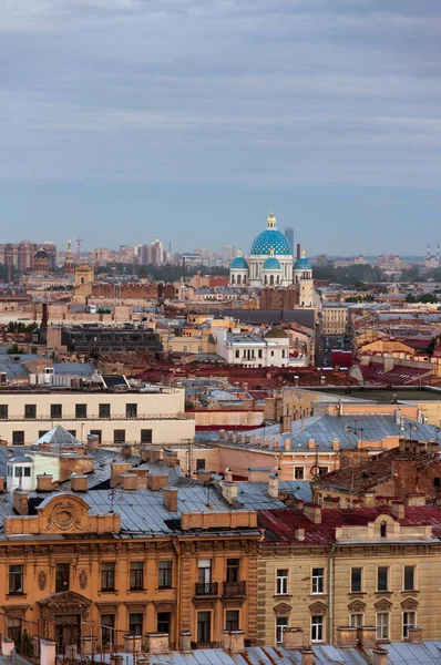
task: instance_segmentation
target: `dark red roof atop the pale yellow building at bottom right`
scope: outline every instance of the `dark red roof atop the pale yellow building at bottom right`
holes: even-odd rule
[[[321,524],[314,524],[301,510],[281,508],[259,511],[259,526],[265,529],[264,544],[289,543],[291,545],[324,545],[335,541],[339,526],[366,526],[380,514],[390,514],[389,508],[325,509]],[[406,507],[402,526],[431,524],[433,535],[441,538],[441,508]],[[305,529],[305,541],[296,540],[297,529]]]

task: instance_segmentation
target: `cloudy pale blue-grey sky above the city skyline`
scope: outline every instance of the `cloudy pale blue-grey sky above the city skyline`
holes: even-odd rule
[[[2,0],[0,243],[441,242],[439,0]]]

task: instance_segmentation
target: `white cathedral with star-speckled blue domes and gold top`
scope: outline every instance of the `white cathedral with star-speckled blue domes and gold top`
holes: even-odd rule
[[[312,307],[312,266],[301,250],[294,259],[287,238],[277,229],[273,213],[266,229],[254,239],[247,258],[240,249],[229,264],[229,284],[240,288],[291,287],[300,307]]]

